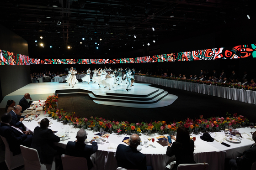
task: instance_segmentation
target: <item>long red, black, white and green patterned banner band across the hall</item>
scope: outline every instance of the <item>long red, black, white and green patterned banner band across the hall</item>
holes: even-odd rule
[[[0,65],[29,65],[29,64],[123,64],[147,62],[179,62],[198,60],[219,60],[237,58],[256,58],[256,44],[234,47],[210,48],[190,52],[177,52],[155,56],[117,58],[117,59],[36,59],[0,50]]]

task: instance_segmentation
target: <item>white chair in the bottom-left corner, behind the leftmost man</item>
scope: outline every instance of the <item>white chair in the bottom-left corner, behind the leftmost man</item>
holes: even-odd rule
[[[5,164],[7,165],[8,170],[24,165],[23,156],[21,154],[13,156],[7,140],[3,136],[1,136],[1,138],[5,144]]]

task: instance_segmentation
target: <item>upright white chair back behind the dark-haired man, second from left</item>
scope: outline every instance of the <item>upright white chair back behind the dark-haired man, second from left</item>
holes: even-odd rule
[[[36,149],[20,145],[21,154],[24,158],[25,170],[40,170],[41,162]]]

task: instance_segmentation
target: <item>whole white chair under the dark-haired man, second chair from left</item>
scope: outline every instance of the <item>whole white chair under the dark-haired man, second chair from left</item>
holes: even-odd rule
[[[25,170],[55,170],[55,158],[53,164],[41,164],[37,149],[20,145],[21,154],[24,158]]]

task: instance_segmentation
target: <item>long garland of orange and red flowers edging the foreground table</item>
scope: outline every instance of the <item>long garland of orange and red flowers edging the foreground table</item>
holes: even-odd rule
[[[234,113],[232,116],[229,113],[227,117],[211,117],[203,118],[203,115],[200,115],[199,118],[187,118],[185,120],[176,121],[176,122],[167,122],[167,121],[151,121],[147,122],[137,122],[129,123],[128,121],[117,121],[117,120],[108,120],[102,117],[93,117],[82,118],[77,116],[74,113],[68,113],[63,109],[57,108],[58,95],[48,96],[44,104],[44,113],[48,113],[50,117],[63,121],[64,123],[74,124],[78,128],[103,128],[103,129],[113,129],[117,133],[142,133],[145,131],[156,131],[161,134],[168,134],[170,132],[176,132],[178,127],[184,126],[190,132],[198,130],[201,131],[219,131],[224,129],[225,125],[232,126],[233,128],[244,127],[248,125],[249,120],[242,115]]]

